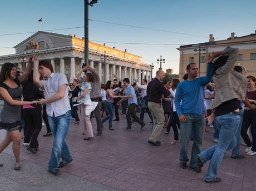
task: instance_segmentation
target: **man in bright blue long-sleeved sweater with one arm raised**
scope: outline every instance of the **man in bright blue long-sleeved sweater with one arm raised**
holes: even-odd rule
[[[205,77],[198,78],[198,66],[190,63],[186,67],[188,79],[179,83],[175,94],[175,107],[180,119],[180,167],[185,169],[188,159],[188,144],[191,130],[194,144],[191,151],[190,168],[196,170],[196,155],[201,152],[205,129],[204,87],[212,80],[209,55]]]

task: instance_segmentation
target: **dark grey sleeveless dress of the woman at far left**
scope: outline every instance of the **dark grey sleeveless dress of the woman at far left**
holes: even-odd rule
[[[13,80],[18,85],[17,88],[10,88],[5,83],[0,83],[0,87],[7,89],[12,99],[20,101],[22,98],[21,84],[18,78]],[[0,114],[0,129],[6,129],[7,131],[17,130],[21,120],[21,106],[11,105],[6,100],[3,101],[3,109]]]

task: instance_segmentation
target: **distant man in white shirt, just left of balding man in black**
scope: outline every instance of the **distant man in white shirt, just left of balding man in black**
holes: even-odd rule
[[[142,121],[144,120],[144,113],[145,113],[145,110],[146,110],[147,114],[149,114],[149,117],[151,119],[150,123],[152,123],[153,118],[152,118],[152,115],[150,113],[149,108],[145,108],[142,105],[142,102],[145,102],[146,105],[147,105],[147,80],[146,79],[142,79],[142,85],[138,82],[137,79],[134,79],[134,81],[136,82],[137,87],[141,89],[141,98],[142,98],[142,100],[141,100],[141,104],[140,104],[141,105],[141,108],[140,108],[140,119]]]

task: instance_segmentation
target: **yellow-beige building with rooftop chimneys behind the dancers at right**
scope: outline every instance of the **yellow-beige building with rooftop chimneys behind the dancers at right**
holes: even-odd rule
[[[205,76],[208,54],[212,51],[223,51],[228,46],[240,49],[235,65],[241,66],[246,76],[256,76],[255,31],[252,34],[242,37],[235,37],[235,33],[231,33],[231,36],[227,40],[222,41],[215,41],[213,35],[210,34],[209,42],[180,46],[177,48],[180,51],[180,80],[182,80],[186,73],[186,66],[191,62],[197,63],[200,76]]]

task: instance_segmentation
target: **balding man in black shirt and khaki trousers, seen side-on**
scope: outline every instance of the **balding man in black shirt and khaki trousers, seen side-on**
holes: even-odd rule
[[[149,107],[149,110],[152,114],[154,123],[152,134],[149,138],[148,143],[154,146],[160,146],[161,142],[157,139],[159,138],[161,130],[164,126],[164,109],[161,105],[161,98],[162,95],[164,95],[165,97],[169,96],[164,85],[161,83],[164,77],[165,72],[159,70],[156,72],[156,77],[147,85],[147,100],[149,101],[147,106]]]

